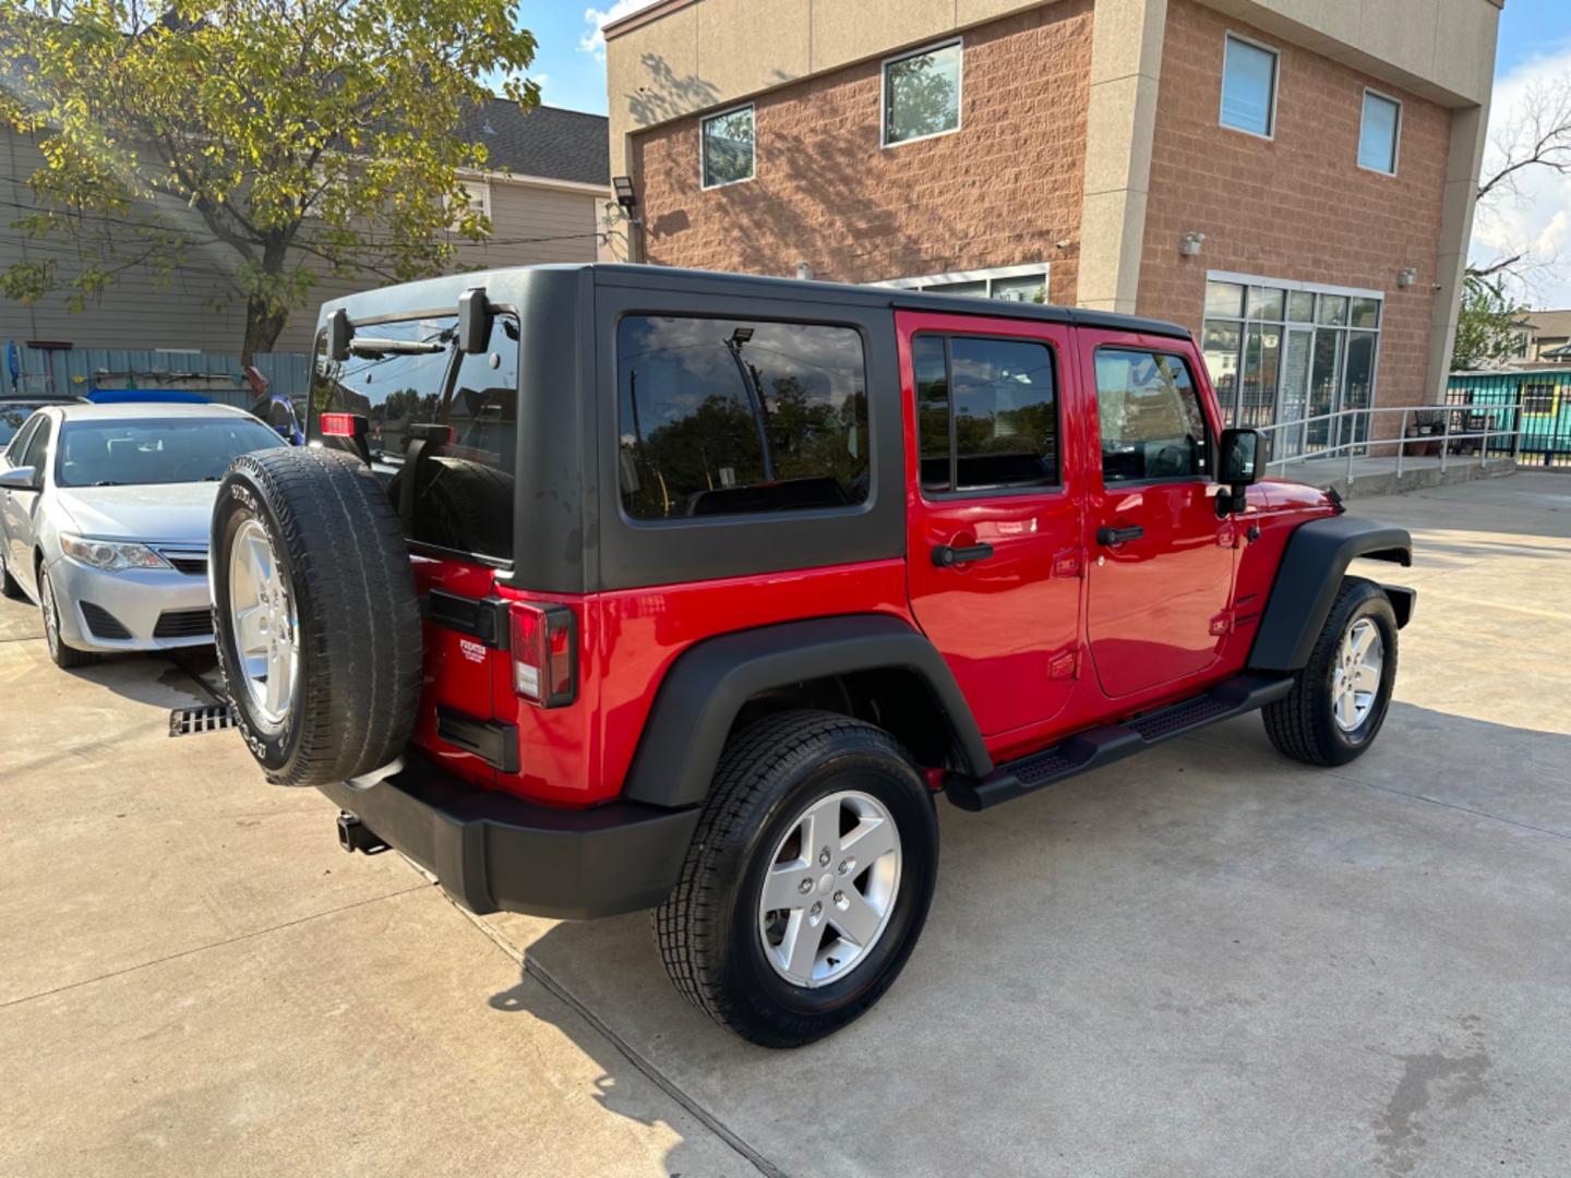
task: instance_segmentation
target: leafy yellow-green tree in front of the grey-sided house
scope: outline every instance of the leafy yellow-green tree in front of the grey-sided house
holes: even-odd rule
[[[0,292],[72,309],[143,269],[223,259],[242,360],[272,350],[322,275],[405,281],[489,229],[462,168],[485,74],[525,107],[517,0],[0,0],[0,121],[38,137],[16,221],[75,258],[20,261]]]

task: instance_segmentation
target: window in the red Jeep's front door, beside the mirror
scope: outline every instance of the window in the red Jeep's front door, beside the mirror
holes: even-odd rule
[[[1103,482],[1192,479],[1210,473],[1205,412],[1181,357],[1097,352]]]

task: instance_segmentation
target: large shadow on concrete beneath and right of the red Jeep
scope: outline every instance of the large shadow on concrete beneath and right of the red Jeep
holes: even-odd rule
[[[983,814],[939,801],[938,894],[905,974],[793,1052],[683,1002],[643,914],[492,927],[525,982],[548,977],[605,1027],[610,1041],[558,1023],[605,1070],[606,1109],[647,1117],[622,1092],[654,1073],[787,1173],[1133,1173],[1153,1158],[1247,1173],[1282,1150],[1368,1172],[1403,1060],[1466,1054],[1459,1012],[1489,1029],[1499,1076],[1543,1066],[1516,991],[1563,977],[1566,766],[1568,735],[1397,704],[1338,770],[1285,760],[1246,716]],[[539,993],[492,1004],[562,1018]],[[1491,1088],[1414,1114],[1412,1148],[1477,1161],[1521,1099]],[[1170,1154],[1180,1142],[1205,1158]]]

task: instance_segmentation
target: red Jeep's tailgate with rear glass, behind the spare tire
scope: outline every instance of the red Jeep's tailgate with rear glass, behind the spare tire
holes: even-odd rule
[[[492,317],[485,352],[452,346],[456,317],[360,327],[349,360],[317,344],[311,444],[369,457],[404,520],[423,598],[424,693],[415,741],[465,776],[515,771],[507,611],[496,573],[514,559],[518,325]],[[440,344],[379,352],[369,341]],[[363,419],[363,424],[352,419]],[[358,437],[357,437],[358,435]]]

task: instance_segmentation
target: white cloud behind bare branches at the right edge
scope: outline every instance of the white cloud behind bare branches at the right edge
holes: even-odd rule
[[[1571,97],[1571,46],[1533,57],[1496,82],[1485,176],[1499,170],[1510,141],[1519,138],[1524,112],[1557,90]],[[1469,261],[1486,265],[1518,253],[1530,265],[1522,278],[1508,280],[1513,292],[1533,306],[1571,306],[1571,176],[1524,168],[1478,206]]]

